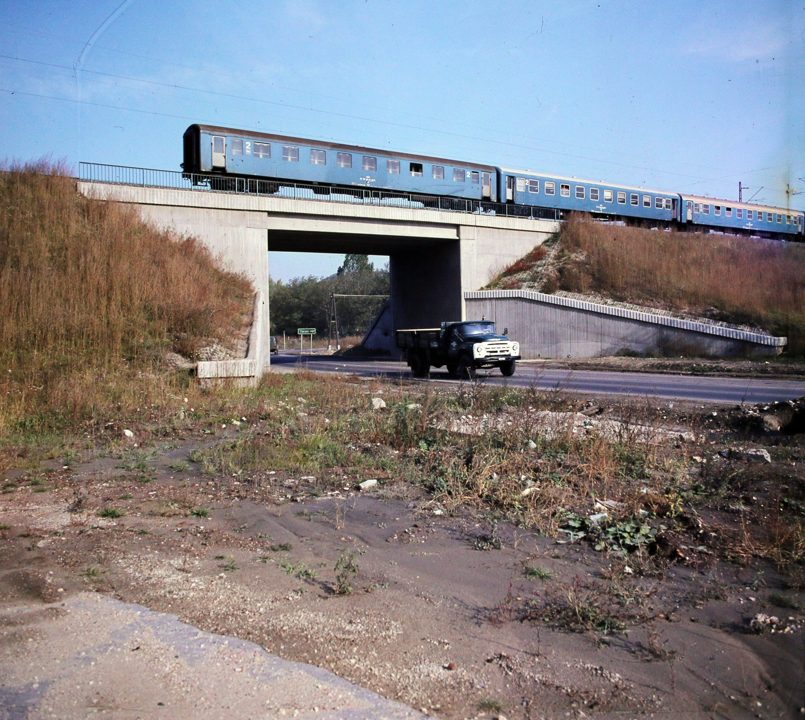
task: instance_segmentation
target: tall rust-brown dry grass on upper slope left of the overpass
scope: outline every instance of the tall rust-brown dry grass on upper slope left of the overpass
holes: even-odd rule
[[[0,364],[52,373],[225,337],[252,288],[196,239],[76,194],[64,167],[0,172]]]

